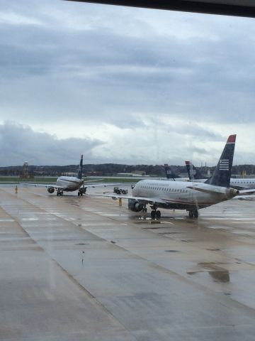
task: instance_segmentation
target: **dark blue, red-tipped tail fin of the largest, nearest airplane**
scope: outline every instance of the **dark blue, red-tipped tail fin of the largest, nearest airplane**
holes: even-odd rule
[[[222,151],[222,155],[220,156],[220,160],[217,163],[215,171],[213,172],[212,177],[205,183],[229,187],[236,136],[237,135],[230,135],[227,139],[227,144]]]

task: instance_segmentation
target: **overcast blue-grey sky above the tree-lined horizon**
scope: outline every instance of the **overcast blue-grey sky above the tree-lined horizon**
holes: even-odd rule
[[[0,166],[255,163],[255,19],[0,0]]]

